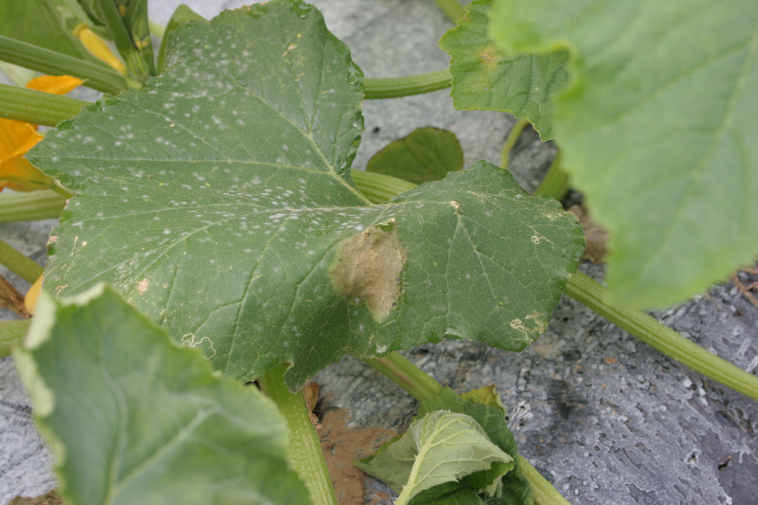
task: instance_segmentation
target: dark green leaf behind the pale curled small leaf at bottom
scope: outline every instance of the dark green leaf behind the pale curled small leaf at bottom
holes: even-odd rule
[[[472,394],[475,391],[482,391],[491,386],[486,386],[474,391],[469,391],[462,395],[456,394],[450,388],[443,388],[440,394],[430,398],[418,407],[417,417],[424,416],[436,410],[449,410],[450,412],[462,413],[471,416],[487,433],[487,436],[500,447],[503,451],[512,457],[514,468],[503,475],[503,494],[497,498],[490,498],[487,503],[490,505],[534,505],[534,499],[531,496],[531,485],[522,473],[521,466],[518,463],[518,448],[516,447],[515,438],[508,429],[504,409],[493,407],[489,402],[474,400],[476,396]],[[496,393],[495,393],[496,394]],[[481,399],[481,398],[480,398]],[[501,404],[502,405],[502,404]]]

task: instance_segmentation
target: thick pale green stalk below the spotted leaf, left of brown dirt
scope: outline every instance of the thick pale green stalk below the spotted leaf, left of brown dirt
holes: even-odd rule
[[[290,464],[305,483],[305,488],[308,488],[313,505],[337,505],[324,451],[321,450],[318,433],[311,421],[308,407],[305,406],[305,395],[302,391],[290,393],[287,385],[284,385],[286,370],[287,363],[280,363],[259,378],[258,384],[287,419],[287,426],[290,427],[290,444],[287,448]]]

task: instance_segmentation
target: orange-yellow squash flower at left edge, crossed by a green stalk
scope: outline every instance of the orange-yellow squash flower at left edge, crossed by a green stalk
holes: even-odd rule
[[[31,79],[27,88],[65,95],[81,83],[82,79],[72,76],[39,76]],[[31,191],[53,185],[52,178],[23,159],[40,140],[36,124],[0,118],[0,191],[4,188]]]

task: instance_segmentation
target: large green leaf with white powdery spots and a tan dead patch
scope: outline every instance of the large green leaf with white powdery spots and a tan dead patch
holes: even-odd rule
[[[521,350],[544,331],[577,218],[483,162],[369,204],[349,176],[360,70],[315,8],[256,4],[169,39],[161,76],[27,155],[77,192],[45,288],[108,282],[225,376],[293,363],[293,391],[344,354],[449,335]]]

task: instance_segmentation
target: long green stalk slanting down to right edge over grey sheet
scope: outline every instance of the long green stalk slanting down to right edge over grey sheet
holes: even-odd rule
[[[641,310],[615,303],[606,288],[583,273],[574,274],[563,292],[666,356],[758,400],[758,377],[709,353]]]

